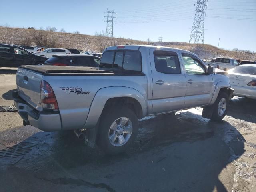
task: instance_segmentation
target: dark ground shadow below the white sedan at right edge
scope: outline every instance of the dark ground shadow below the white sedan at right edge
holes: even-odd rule
[[[236,119],[256,123],[256,100],[239,97],[230,100],[230,108],[227,115]]]

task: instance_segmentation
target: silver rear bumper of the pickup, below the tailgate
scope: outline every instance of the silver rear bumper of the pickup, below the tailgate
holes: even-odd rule
[[[59,112],[39,112],[30,106],[18,95],[18,91],[12,93],[12,97],[20,117],[27,123],[43,131],[62,130]]]

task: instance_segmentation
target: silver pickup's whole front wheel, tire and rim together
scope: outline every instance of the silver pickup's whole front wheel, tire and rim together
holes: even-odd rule
[[[220,121],[226,116],[228,110],[228,94],[220,92],[215,103],[213,104],[212,120]]]

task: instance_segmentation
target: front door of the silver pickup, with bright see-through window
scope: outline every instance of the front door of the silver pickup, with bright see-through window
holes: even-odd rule
[[[210,103],[213,94],[213,80],[206,66],[196,57],[182,53],[186,76],[185,108],[203,106]]]

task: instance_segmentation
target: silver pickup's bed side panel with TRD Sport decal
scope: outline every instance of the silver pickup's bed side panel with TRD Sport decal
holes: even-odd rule
[[[43,80],[51,85],[57,98],[63,130],[83,128],[94,96],[101,88],[130,87],[147,100],[146,76],[43,76]]]

